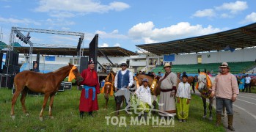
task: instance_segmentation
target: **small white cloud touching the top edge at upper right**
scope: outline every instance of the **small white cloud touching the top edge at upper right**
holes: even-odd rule
[[[229,10],[230,13],[236,14],[238,12],[246,10],[247,8],[248,5],[246,1],[235,1],[230,3],[224,3],[221,6],[216,7],[216,10]]]

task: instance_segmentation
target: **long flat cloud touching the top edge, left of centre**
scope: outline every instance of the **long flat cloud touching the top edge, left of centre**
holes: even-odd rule
[[[130,6],[123,2],[114,1],[109,4],[101,4],[100,1],[92,0],[40,0],[37,12],[109,12],[110,10],[122,11]]]

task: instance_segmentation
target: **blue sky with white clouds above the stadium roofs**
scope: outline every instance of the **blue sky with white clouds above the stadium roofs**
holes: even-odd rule
[[[2,40],[12,26],[95,34],[99,46],[160,43],[235,29],[256,22],[256,1],[205,0],[0,0]],[[26,32],[23,32],[26,34]],[[32,43],[73,45],[78,37],[30,33]],[[27,46],[22,43],[22,45]]]

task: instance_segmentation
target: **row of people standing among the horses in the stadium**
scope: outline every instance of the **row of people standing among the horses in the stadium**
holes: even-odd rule
[[[91,60],[88,68],[81,73],[81,76],[84,78],[84,81],[81,82],[84,87],[81,90],[79,104],[81,118],[84,117],[84,112],[88,112],[89,116],[93,117],[92,111],[98,110],[97,94],[100,93],[100,86],[98,82],[98,74],[95,72],[94,67],[95,62]],[[127,67],[128,65],[126,63],[122,63],[121,70],[117,72],[114,78],[115,92],[122,89],[130,89],[134,84],[133,73],[130,70],[127,70]],[[219,68],[220,73],[215,78],[211,92],[211,96],[216,97],[216,126],[219,126],[221,123],[222,107],[224,106],[227,109],[228,129],[235,131],[233,128],[233,102],[239,94],[238,85],[239,89],[240,87],[243,87],[242,89],[246,88],[250,78],[248,75],[242,77],[238,84],[235,76],[230,73],[230,67],[228,67],[226,62],[223,62]],[[164,71],[165,73],[152,73],[152,75],[161,82],[161,93],[158,103],[163,105],[158,106],[158,114],[160,117],[165,118],[177,115],[179,122],[187,122],[189,117],[189,104],[191,102],[191,86],[188,83],[188,76],[186,73],[183,73],[182,81],[178,83],[177,75],[172,72],[172,65],[165,63]],[[250,89],[249,92],[251,92]],[[142,101],[140,106],[148,109],[149,102],[145,99],[145,97],[147,97],[145,94],[150,94],[147,78],[142,80],[142,86],[136,89],[135,94],[137,98]],[[118,116],[120,114],[119,111],[122,103],[122,96],[115,96],[115,103],[116,116]],[[147,111],[143,113],[143,117],[147,118]],[[140,115],[139,120],[141,118],[142,115]]]

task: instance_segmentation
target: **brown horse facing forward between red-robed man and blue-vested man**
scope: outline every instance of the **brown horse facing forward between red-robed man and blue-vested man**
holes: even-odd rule
[[[104,94],[104,98],[106,100],[106,106],[105,108],[108,108],[108,102],[109,102],[109,95],[114,95],[114,77],[116,73],[111,71],[108,76],[105,78],[105,84],[104,87],[101,89],[101,93]]]

